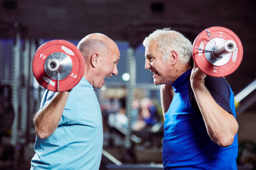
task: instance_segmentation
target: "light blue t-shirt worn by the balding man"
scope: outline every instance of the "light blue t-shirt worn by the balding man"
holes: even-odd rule
[[[41,107],[54,92],[46,90]],[[58,128],[48,138],[38,136],[30,170],[98,170],[103,144],[102,115],[93,86],[82,77],[69,93]]]

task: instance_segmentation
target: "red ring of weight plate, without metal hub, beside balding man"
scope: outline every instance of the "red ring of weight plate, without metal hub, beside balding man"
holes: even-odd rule
[[[82,53],[72,43],[66,40],[51,40],[41,45],[33,58],[33,74],[38,83],[46,88],[50,77],[48,77],[44,70],[44,62],[50,54],[55,52],[65,53],[72,60],[72,70],[69,76],[59,81],[59,91],[67,91],[78,84],[85,70],[85,61]],[[47,89],[50,91],[58,91],[58,81],[52,79]]]

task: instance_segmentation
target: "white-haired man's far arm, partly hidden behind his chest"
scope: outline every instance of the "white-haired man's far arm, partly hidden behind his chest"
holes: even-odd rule
[[[160,88],[161,106],[163,110],[163,117],[165,120],[165,113],[168,111],[172,99],[174,98],[174,89],[171,85],[161,85]]]

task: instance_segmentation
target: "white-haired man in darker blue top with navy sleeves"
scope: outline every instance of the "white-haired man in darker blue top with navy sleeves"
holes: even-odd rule
[[[238,123],[228,82],[191,66],[191,42],[179,32],[156,30],[143,45],[145,69],[161,85],[164,170],[237,169]]]

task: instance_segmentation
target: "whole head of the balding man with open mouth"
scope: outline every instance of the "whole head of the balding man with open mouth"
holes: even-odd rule
[[[82,38],[77,45],[85,58],[84,77],[99,89],[108,76],[117,75],[120,51],[117,44],[104,34],[94,33]]]

